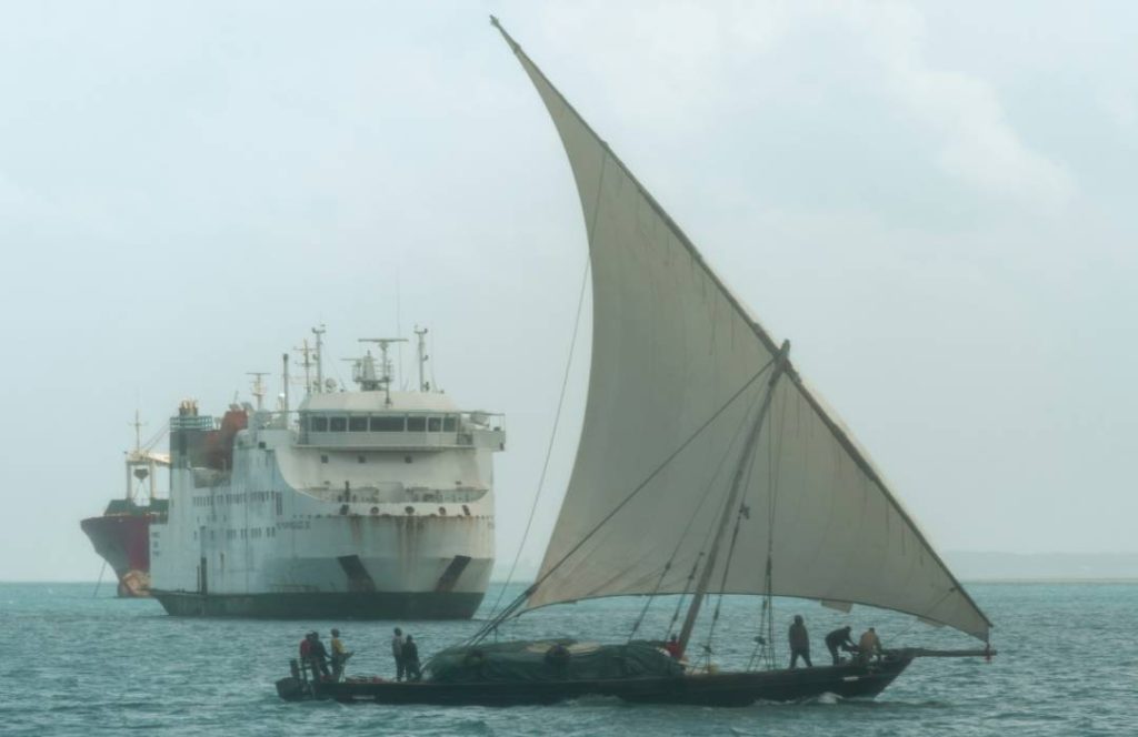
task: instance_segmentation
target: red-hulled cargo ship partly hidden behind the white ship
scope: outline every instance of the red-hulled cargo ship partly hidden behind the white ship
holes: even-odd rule
[[[159,498],[156,488],[159,466],[170,465],[170,456],[151,448],[165,434],[159,432],[141,442],[142,423],[134,415],[134,449],[126,453],[126,494],[112,499],[99,516],[80,522],[106,564],[118,579],[118,596],[124,598],[150,595],[150,525],[165,522],[168,500]]]

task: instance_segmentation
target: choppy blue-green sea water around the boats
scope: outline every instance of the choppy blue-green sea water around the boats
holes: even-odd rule
[[[745,709],[628,705],[583,699],[543,707],[422,707],[281,702],[273,682],[307,630],[338,627],[356,655],[348,673],[391,677],[387,640],[402,626],[420,653],[465,637],[473,622],[242,621],[166,616],[156,602],[97,596],[92,583],[0,583],[2,735],[1138,735],[1138,583],[975,583],[996,623],[992,663],[920,660],[872,702],[822,698]],[[520,587],[510,587],[510,595]],[[497,596],[492,589],[484,612]],[[622,641],[643,606],[624,598],[526,614],[503,637],[572,635]],[[642,634],[666,629],[660,599]],[[752,652],[759,601],[728,598],[715,661]],[[822,638],[848,622],[875,626],[885,647],[973,647],[974,640],[868,608],[842,614],[776,601],[784,632],[806,616]],[[703,637],[698,632],[695,640]],[[778,654],[785,654],[778,643]],[[424,657],[426,660],[426,657]]]

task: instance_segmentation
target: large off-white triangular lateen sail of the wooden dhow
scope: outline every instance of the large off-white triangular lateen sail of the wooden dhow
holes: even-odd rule
[[[775,595],[897,610],[987,640],[987,618],[792,368],[775,383],[754,453],[744,455],[777,346],[506,40],[568,154],[593,272],[580,445],[528,606],[691,591],[747,458],[748,513],[717,556],[711,591],[765,594],[769,558]]]

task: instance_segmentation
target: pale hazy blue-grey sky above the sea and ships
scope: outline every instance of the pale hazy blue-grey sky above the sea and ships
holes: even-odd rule
[[[345,379],[426,324],[438,383],[508,414],[512,557],[586,250],[490,11],[940,549],[1138,550],[1133,3],[10,2],[0,580],[93,579],[135,407],[220,414],[320,322]]]

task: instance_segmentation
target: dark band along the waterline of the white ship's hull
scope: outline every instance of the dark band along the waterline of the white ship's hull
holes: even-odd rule
[[[470,619],[481,591],[196,594],[154,590],[167,614],[254,619],[452,620]]]

